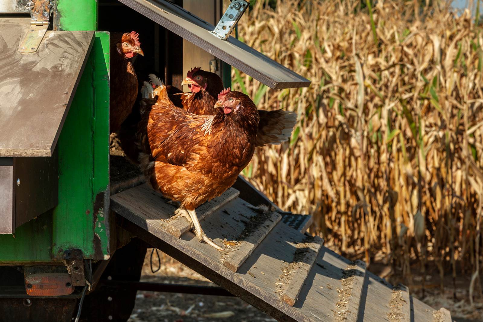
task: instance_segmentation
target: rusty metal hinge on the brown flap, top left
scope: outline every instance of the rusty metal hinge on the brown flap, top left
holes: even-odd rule
[[[30,2],[30,26],[18,51],[24,54],[35,53],[49,28],[51,0],[31,0]]]

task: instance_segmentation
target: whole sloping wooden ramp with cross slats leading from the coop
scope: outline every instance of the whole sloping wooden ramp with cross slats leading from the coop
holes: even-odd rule
[[[168,220],[176,208],[146,184],[111,196],[125,229],[278,321],[451,321],[448,311],[300,232],[305,216],[294,229],[284,223],[291,223],[287,214],[256,208],[230,188],[197,209],[208,237],[226,250],[218,252],[200,243],[184,218]]]

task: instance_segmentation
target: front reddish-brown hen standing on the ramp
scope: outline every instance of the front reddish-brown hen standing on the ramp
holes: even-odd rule
[[[216,115],[195,115],[173,105],[166,86],[142,87],[138,126],[140,167],[147,181],[164,196],[181,203],[175,217],[193,223],[198,239],[222,250],[208,238],[195,209],[223,194],[252,159],[259,115],[245,94],[228,88],[218,95]]]

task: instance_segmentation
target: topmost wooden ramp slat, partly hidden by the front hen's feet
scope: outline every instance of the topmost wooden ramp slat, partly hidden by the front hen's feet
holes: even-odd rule
[[[210,201],[205,202],[201,206],[196,209],[196,214],[198,216],[198,220],[201,222],[203,221],[206,216],[211,215],[216,210],[219,210],[223,206],[225,206],[228,202],[235,199],[240,195],[238,190],[229,188],[223,195],[213,198]],[[193,228],[193,223],[190,223],[186,220],[185,217],[178,217],[169,222],[167,222],[164,228],[170,232],[174,237],[180,237],[185,232]]]

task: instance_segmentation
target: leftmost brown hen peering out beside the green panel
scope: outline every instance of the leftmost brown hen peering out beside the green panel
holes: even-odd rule
[[[111,110],[110,133],[116,132],[132,112],[138,96],[138,78],[132,57],[144,56],[136,32],[111,33]]]

